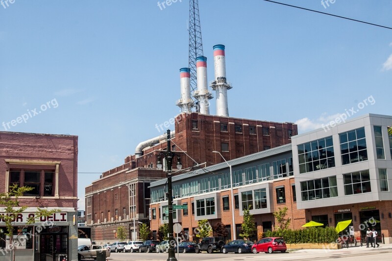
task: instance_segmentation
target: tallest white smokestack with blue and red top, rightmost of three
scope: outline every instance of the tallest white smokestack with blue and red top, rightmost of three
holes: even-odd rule
[[[232,86],[226,81],[226,58],[224,55],[224,45],[214,45],[214,65],[215,79],[211,87],[216,91],[217,97],[217,116],[229,117],[227,105],[227,90]]]

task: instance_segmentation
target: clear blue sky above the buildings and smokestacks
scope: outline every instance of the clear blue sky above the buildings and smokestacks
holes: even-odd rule
[[[392,27],[389,0],[280,1]],[[297,122],[304,132],[368,97],[374,103],[354,116],[391,113],[392,30],[262,0],[199,0],[199,8],[209,80],[212,47],[226,46],[230,116]],[[0,124],[46,104],[0,130],[78,135],[79,172],[123,164],[162,134],[155,124],[179,113],[188,9],[188,0],[162,10],[157,0],[0,5]],[[98,177],[79,173],[80,208]]]

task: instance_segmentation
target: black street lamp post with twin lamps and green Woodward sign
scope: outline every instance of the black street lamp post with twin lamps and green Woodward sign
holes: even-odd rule
[[[167,149],[166,152],[162,152],[158,156],[158,162],[156,164],[157,169],[162,169],[161,156],[166,159],[166,176],[168,177],[168,208],[169,208],[169,257],[167,261],[177,261],[174,254],[173,247],[173,195],[172,195],[172,160],[176,156],[171,151],[172,145],[170,141],[170,130],[167,131]],[[182,167],[181,159],[177,155],[177,169],[180,170]]]

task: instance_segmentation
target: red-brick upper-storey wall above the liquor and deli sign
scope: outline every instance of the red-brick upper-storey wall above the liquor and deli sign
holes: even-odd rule
[[[78,137],[72,135],[0,132],[0,191],[5,190],[7,169],[55,169],[54,166],[45,165],[7,164],[5,159],[49,160],[61,161],[59,197],[77,197],[77,143]],[[77,208],[77,199],[21,198],[20,204],[28,207]]]

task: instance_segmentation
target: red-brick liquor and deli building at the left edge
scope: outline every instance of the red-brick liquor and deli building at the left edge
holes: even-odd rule
[[[58,260],[59,255],[77,260],[77,224],[73,224],[77,214],[77,144],[78,137],[72,135],[0,132],[1,192],[8,192],[12,183],[33,187],[19,198],[20,206],[28,208],[15,222],[26,238],[25,244],[18,246],[16,260]],[[41,222],[25,227],[25,219],[38,207],[60,209],[47,218],[51,227],[43,227]],[[6,231],[4,225],[0,222],[2,231]],[[8,260],[6,235],[0,237],[5,254],[0,255],[0,261]]]

